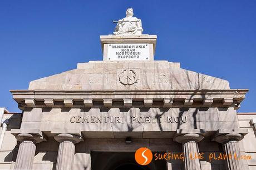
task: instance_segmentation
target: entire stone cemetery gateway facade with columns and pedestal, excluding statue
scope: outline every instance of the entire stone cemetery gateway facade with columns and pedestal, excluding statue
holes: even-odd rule
[[[156,36],[101,44],[103,61],[11,90],[22,114],[4,114],[0,169],[256,169],[256,114],[236,111],[248,89],[154,61]]]

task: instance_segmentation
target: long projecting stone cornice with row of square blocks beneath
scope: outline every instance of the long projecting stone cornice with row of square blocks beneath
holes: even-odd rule
[[[160,91],[10,90],[13,99],[21,109],[25,107],[99,107],[101,102],[105,107],[234,107],[237,109],[248,91],[249,89]],[[128,99],[130,104],[127,105],[126,101]],[[72,104],[67,104],[67,101],[72,101]],[[91,101],[91,104],[87,104],[87,101]],[[112,104],[106,104],[106,101],[112,101]],[[168,101],[171,102],[168,103]]]

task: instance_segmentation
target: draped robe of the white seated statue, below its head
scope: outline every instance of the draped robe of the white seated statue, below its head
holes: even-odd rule
[[[136,17],[125,17],[119,21],[139,21],[117,23],[114,34],[135,34],[141,28],[141,20]],[[141,28],[142,29],[142,28]]]

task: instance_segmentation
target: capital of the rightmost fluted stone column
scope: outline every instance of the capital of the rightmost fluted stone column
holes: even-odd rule
[[[218,129],[211,141],[225,143],[228,141],[240,141],[248,133],[248,129]]]

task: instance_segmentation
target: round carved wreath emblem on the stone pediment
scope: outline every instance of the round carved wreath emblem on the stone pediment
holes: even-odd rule
[[[121,84],[126,85],[132,85],[134,83],[137,83],[139,80],[137,78],[137,73],[134,71],[134,69],[123,69],[119,74],[119,82]]]

